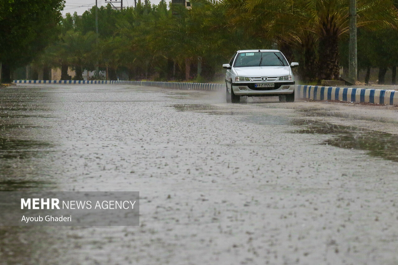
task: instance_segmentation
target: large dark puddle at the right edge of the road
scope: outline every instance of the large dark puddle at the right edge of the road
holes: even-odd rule
[[[398,162],[398,136],[390,133],[370,131],[357,127],[334,125],[309,120],[295,120],[293,125],[306,126],[294,133],[331,134],[324,144],[368,151],[367,154]]]

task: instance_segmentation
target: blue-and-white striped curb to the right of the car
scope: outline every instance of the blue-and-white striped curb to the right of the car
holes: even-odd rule
[[[299,98],[398,105],[398,91],[395,90],[303,85],[297,85],[295,89]]]

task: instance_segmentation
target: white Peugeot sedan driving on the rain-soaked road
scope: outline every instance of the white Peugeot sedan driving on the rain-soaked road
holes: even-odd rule
[[[295,79],[292,67],[278,50],[237,51],[226,68],[226,100],[239,103],[241,96],[286,96],[287,102],[295,101]]]

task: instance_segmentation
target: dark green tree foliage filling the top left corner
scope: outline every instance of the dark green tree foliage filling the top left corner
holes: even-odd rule
[[[0,3],[0,62],[3,81],[30,62],[57,38],[63,0],[2,0]]]

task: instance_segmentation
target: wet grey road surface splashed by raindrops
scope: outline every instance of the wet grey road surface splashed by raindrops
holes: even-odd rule
[[[0,90],[0,190],[139,191],[140,226],[0,227],[0,264],[397,264],[398,110]]]

